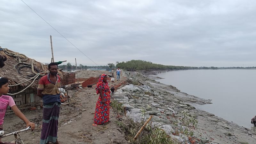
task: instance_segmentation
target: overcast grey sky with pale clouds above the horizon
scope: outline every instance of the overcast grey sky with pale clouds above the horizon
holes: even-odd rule
[[[256,66],[255,0],[24,2],[98,65]],[[2,48],[49,63],[52,35],[55,61],[96,65],[21,0],[1,0],[0,26]]]

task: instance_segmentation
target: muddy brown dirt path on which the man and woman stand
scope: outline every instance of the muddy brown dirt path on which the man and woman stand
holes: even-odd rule
[[[98,75],[100,72],[97,71]],[[118,85],[125,81],[122,78],[114,83],[109,82],[109,85]],[[71,96],[70,104],[61,106],[58,140],[62,144],[125,144],[124,134],[116,125],[116,114],[110,109],[110,121],[107,125],[92,126],[93,116],[95,111],[96,101],[99,95],[96,95],[95,85],[92,88],[83,88],[69,90]],[[20,133],[24,143],[38,144],[41,135],[42,125],[42,109],[38,108],[34,111],[25,110],[24,115],[32,122],[36,123],[34,132],[27,131]],[[14,114],[5,116],[4,130],[5,133],[17,131],[25,128],[25,124]],[[3,138],[2,141],[10,142],[14,140],[13,136]]]

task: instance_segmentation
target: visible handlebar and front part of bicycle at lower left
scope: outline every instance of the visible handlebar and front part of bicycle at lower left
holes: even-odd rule
[[[8,133],[8,134],[4,134],[4,131],[0,131],[0,139],[4,138],[4,137],[8,137],[10,135],[14,135],[15,138],[15,143],[6,143],[6,142],[0,142],[0,144],[24,144],[21,137],[20,137],[20,132],[24,132],[30,129],[30,126],[27,127],[26,129],[20,130],[20,131],[16,131],[16,132],[12,132],[12,133]],[[19,138],[18,138],[19,136]]]

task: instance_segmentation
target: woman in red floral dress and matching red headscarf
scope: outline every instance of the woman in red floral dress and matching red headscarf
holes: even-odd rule
[[[109,122],[110,90],[107,78],[107,75],[102,74],[97,82],[96,93],[100,95],[95,108],[95,124],[104,124]]]

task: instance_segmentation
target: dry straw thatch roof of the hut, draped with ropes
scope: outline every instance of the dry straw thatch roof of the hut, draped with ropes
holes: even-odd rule
[[[10,50],[8,50],[8,52],[19,54],[18,52],[13,52],[13,51],[10,51]],[[24,82],[24,81],[32,78],[29,75],[35,76],[35,74],[32,73],[31,67],[30,68],[29,67],[22,67],[22,66],[26,66],[24,64],[19,64],[17,66],[17,68],[15,68],[15,65],[17,63],[19,63],[19,61],[17,60],[17,58],[15,56],[8,56],[6,54],[6,52],[4,52],[3,50],[0,50],[0,54],[5,55],[7,57],[7,60],[4,62],[5,63],[4,67],[0,68],[0,76],[1,77],[7,77],[9,79],[9,85],[19,84],[21,82]],[[26,57],[23,56],[23,55],[20,55],[20,59],[25,60]],[[22,63],[31,64],[32,62],[34,64],[35,71],[36,71],[36,69],[37,69],[37,72],[38,71],[39,72],[48,71],[48,66],[43,65],[42,63],[37,62],[37,61],[35,61],[33,59],[30,59],[30,58],[28,58],[28,60],[26,60]],[[18,69],[20,69],[20,73],[18,73]],[[63,72],[59,71],[58,73],[59,73],[60,77],[63,77]],[[38,82],[40,80],[40,77],[41,76],[39,76],[36,79],[36,81],[29,88],[32,88],[34,91],[36,91],[37,86],[38,86]],[[11,86],[10,87],[10,93],[19,92],[19,91],[23,90],[24,88],[26,88],[32,82],[33,82],[33,79],[26,82],[26,83],[20,84],[18,86]]]

